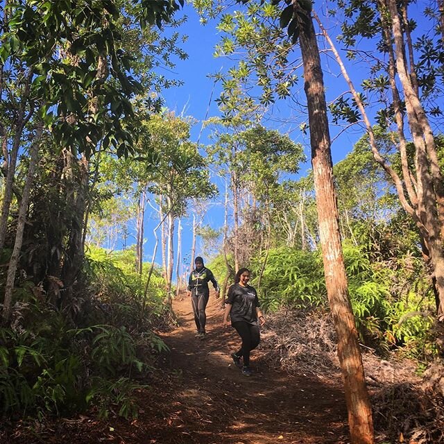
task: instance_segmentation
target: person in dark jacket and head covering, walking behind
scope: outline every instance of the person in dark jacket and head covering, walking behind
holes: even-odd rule
[[[205,324],[207,323],[207,315],[205,308],[210,298],[210,289],[208,282],[212,282],[216,290],[216,298],[219,298],[219,284],[212,271],[203,265],[202,257],[198,256],[194,260],[196,268],[191,271],[188,280],[188,294],[191,296],[191,305],[194,312],[194,322],[196,323],[196,338],[205,338]]]

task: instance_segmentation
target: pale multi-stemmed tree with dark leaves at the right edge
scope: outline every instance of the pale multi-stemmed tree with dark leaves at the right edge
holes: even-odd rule
[[[432,281],[436,284],[438,318],[444,319],[444,186],[443,175],[438,162],[435,137],[430,124],[434,115],[441,110],[434,105],[439,79],[442,78],[443,60],[437,57],[441,48],[441,35],[421,35],[413,42],[412,30],[415,22],[408,16],[409,2],[399,5],[392,0],[357,4],[340,1],[347,17],[355,22],[350,27],[349,18],[343,24],[342,40],[351,48],[357,36],[375,37],[383,42],[377,45],[387,62],[377,62],[372,69],[373,77],[364,80],[366,92],[376,92],[384,108],[378,112],[378,123],[394,126],[397,132],[401,158],[401,171],[397,173],[388,158],[379,153],[375,143],[372,124],[366,111],[366,97],[357,92],[339,56],[332,39],[324,29],[343,76],[352,93],[355,109],[335,105],[334,111],[343,113],[348,121],[356,121],[353,114],[359,112],[366,124],[370,146],[375,160],[388,173],[396,187],[404,210],[415,221],[422,237],[422,253],[432,268]],[[427,14],[427,10],[425,11]],[[377,52],[375,51],[375,54]],[[348,55],[355,58],[355,51]],[[391,94],[388,101],[387,94]],[[427,106],[428,108],[427,109]],[[407,149],[407,121],[413,139],[414,154]]]

